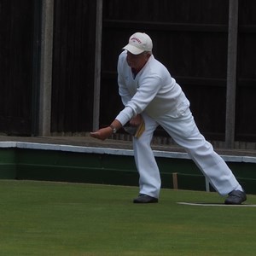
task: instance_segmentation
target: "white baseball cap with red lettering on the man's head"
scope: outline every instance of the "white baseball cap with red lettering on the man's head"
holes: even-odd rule
[[[137,32],[129,39],[129,44],[123,49],[127,49],[133,55],[139,55],[143,51],[152,51],[153,44],[151,38],[146,33]]]

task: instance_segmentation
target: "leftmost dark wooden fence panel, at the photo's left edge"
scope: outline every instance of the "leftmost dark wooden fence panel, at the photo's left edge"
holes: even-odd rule
[[[32,129],[33,4],[0,4],[0,132],[30,135]]]

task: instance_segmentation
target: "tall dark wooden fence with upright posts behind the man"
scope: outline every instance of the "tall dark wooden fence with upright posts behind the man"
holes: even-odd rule
[[[108,125],[122,109],[118,55],[141,31],[207,139],[256,142],[255,1],[35,2],[0,0],[0,132],[77,134]]]

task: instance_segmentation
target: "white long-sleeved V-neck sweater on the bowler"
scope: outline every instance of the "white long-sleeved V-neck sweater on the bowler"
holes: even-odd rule
[[[118,84],[125,108],[116,119],[122,125],[143,111],[152,118],[160,118],[165,113],[175,118],[189,108],[183,90],[154,55],[134,78],[126,61],[126,50],[123,51],[118,61]]]

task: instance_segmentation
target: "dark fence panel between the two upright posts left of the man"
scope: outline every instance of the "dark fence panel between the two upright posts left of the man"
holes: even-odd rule
[[[55,0],[51,132],[92,129],[96,2]]]

